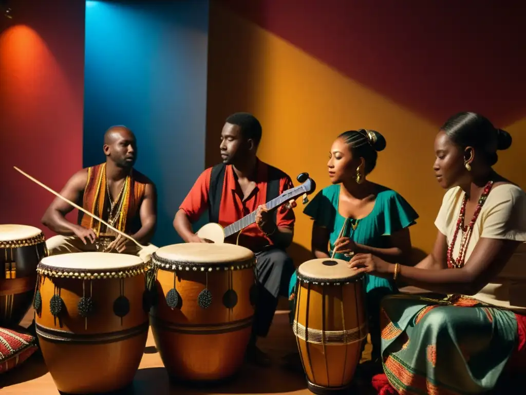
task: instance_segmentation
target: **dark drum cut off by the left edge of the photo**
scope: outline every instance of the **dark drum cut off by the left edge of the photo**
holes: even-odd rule
[[[14,327],[24,318],[35,294],[36,266],[46,255],[40,229],[0,225],[0,327]]]

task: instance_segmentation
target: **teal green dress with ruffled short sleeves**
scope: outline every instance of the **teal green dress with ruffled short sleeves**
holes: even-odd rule
[[[348,237],[357,244],[368,245],[375,248],[390,248],[389,236],[399,230],[415,223],[418,214],[411,205],[397,192],[383,186],[376,196],[375,205],[369,215],[356,220],[348,219],[342,237]],[[332,254],[334,243],[340,235],[345,218],[338,212],[340,198],[340,185],[330,185],[322,189],[306,206],[304,213],[314,220],[316,226],[327,228],[330,232],[329,254]],[[356,229],[353,229],[353,226]],[[335,258],[349,261],[344,254],[336,253]],[[367,294],[366,303],[369,315],[369,330],[375,353],[379,352],[380,332],[379,314],[380,300],[393,292],[396,287],[393,281],[366,274],[364,279]],[[292,275],[289,283],[289,300],[291,303],[291,317],[294,316],[296,288],[296,273]],[[372,339],[375,337],[375,339]],[[375,347],[377,344],[377,347]]]

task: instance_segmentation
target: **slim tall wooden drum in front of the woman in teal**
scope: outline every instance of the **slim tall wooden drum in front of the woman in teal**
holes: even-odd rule
[[[316,394],[349,389],[367,337],[363,276],[339,259],[312,259],[297,269],[296,335],[308,388]]]

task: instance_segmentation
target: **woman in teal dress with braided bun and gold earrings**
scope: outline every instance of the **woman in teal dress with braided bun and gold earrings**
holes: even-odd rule
[[[318,192],[304,210],[314,220],[312,253],[316,258],[333,252],[334,258],[346,261],[355,253],[374,253],[389,262],[409,258],[408,228],[418,214],[400,194],[367,180],[377,152],[385,146],[380,133],[363,129],[344,132],[333,142],[327,164],[332,185]],[[374,361],[380,353],[380,300],[396,288],[391,280],[375,275],[366,275],[364,285]],[[293,312],[295,287],[296,274],[289,286]]]

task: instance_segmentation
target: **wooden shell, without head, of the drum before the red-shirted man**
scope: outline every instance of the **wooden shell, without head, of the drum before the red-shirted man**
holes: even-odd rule
[[[214,382],[233,376],[244,361],[252,331],[254,267],[221,267],[208,273],[158,268],[155,284],[157,301],[150,311],[150,323],[170,379]],[[167,293],[174,285],[179,303],[172,309]],[[224,302],[229,288],[237,294],[233,308],[227,308]],[[198,304],[199,294],[205,289],[212,295],[206,309]]]

